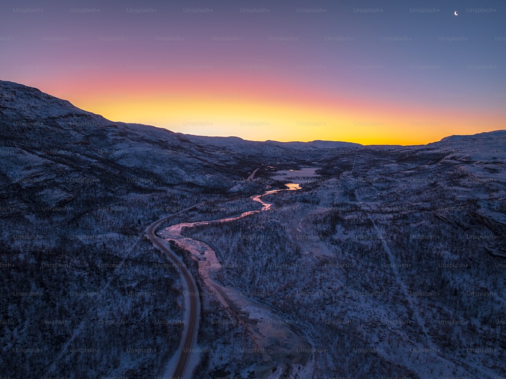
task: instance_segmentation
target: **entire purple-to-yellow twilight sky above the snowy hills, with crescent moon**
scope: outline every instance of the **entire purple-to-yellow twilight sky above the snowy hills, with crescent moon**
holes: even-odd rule
[[[506,129],[503,0],[272,3],[3,0],[0,79],[204,136],[412,145]]]

